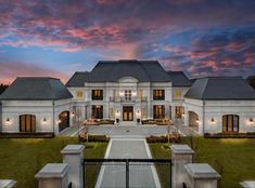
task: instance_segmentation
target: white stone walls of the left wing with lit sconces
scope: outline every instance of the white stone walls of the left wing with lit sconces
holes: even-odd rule
[[[20,116],[36,117],[37,133],[59,134],[59,115],[69,111],[72,126],[74,104],[72,99],[60,100],[2,100],[1,131],[7,133],[20,132]]]

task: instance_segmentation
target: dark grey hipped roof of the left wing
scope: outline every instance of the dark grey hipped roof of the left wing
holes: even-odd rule
[[[51,100],[73,98],[65,85],[55,78],[26,77],[16,80],[0,95],[0,99]]]

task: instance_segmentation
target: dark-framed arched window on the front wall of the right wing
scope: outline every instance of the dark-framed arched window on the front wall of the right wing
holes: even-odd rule
[[[239,116],[225,115],[222,116],[222,132],[238,132],[239,131]]]

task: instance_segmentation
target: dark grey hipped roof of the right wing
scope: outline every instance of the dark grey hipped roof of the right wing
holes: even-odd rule
[[[208,77],[195,80],[186,94],[194,99],[255,99],[255,91],[241,77]]]

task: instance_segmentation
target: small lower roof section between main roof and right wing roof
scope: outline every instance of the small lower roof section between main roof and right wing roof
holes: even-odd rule
[[[168,71],[171,78],[173,86],[191,86],[192,82],[183,71]]]

